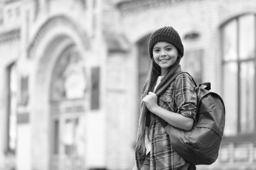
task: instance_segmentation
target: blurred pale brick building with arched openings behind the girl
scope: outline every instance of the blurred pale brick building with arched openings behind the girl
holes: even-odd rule
[[[256,169],[255,0],[0,1],[0,169],[131,169],[162,26],[226,104],[218,160],[197,169]]]

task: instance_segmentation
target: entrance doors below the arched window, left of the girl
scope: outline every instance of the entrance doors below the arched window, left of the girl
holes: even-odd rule
[[[84,169],[84,100],[51,104],[51,169]]]

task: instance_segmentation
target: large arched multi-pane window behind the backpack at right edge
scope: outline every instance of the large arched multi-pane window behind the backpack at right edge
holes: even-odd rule
[[[250,136],[256,130],[255,19],[253,14],[241,15],[220,28],[225,136]]]

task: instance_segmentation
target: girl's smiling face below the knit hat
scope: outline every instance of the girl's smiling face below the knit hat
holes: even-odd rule
[[[156,64],[161,68],[161,75],[166,73],[178,58],[178,50],[168,42],[157,42],[153,48],[153,57]]]

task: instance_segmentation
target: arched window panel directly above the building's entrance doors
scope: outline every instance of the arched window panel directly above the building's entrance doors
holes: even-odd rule
[[[84,98],[85,71],[77,48],[70,46],[61,54],[53,73],[51,100]]]

